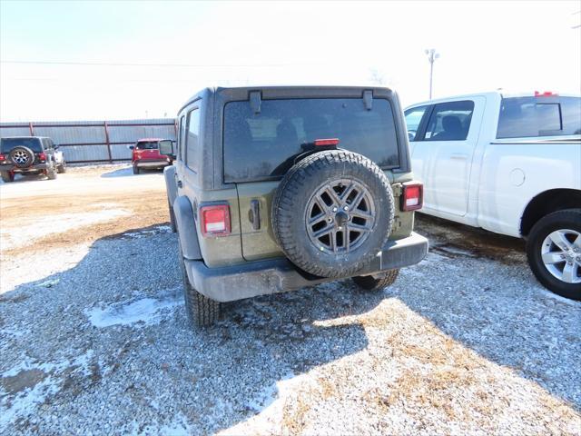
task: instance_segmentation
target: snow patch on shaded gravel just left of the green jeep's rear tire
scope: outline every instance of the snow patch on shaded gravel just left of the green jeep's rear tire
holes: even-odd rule
[[[134,302],[113,304],[105,309],[85,311],[95,327],[111,327],[112,325],[129,325],[134,322],[144,322],[147,325],[156,324],[162,319],[162,312],[181,304],[177,297],[168,297],[162,300],[143,298]]]

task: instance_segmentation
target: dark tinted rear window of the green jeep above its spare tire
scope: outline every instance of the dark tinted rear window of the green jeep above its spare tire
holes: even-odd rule
[[[248,101],[224,108],[224,180],[281,177],[315,139],[339,138],[339,148],[363,154],[384,169],[399,166],[391,105],[360,98],[262,100],[260,114]],[[301,147],[301,144],[303,146]]]

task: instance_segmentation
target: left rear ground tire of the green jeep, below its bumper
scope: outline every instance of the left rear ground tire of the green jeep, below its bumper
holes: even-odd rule
[[[211,326],[220,319],[222,303],[209,299],[192,287],[190,279],[188,279],[188,273],[185,271],[182,245],[179,242],[179,239],[178,253],[180,256],[180,271],[182,272],[183,299],[185,301],[185,312],[188,315],[188,319],[192,322],[194,327]]]

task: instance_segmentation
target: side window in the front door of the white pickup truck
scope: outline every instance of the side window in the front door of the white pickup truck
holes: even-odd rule
[[[464,141],[468,137],[474,102],[439,103],[429,117],[425,141]]]

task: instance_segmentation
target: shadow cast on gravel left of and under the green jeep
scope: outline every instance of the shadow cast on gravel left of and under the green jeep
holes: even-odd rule
[[[313,322],[383,299],[320,285],[229,303],[222,322],[192,331],[175,235],[105,239],[74,268],[0,296],[0,432],[69,432],[77,422],[107,432],[103,421],[163,432],[176,417],[194,433],[230,428],[268,406],[278,381],[368,345],[359,324]]]

